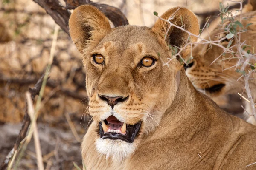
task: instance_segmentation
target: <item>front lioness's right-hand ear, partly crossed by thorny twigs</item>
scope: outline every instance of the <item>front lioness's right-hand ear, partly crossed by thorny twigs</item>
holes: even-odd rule
[[[185,30],[191,32],[192,34],[199,34],[198,19],[195,14],[187,8],[176,7],[169,9],[161,16],[161,18],[163,18],[164,20],[169,20],[176,26],[185,28]],[[152,27],[152,31],[154,31],[156,34],[160,35],[163,38],[165,38],[165,35],[167,34],[166,42],[168,45],[182,48],[186,45],[186,42],[189,42],[188,38],[190,42],[195,42],[197,40],[196,37],[189,37],[188,33],[179,28],[176,28],[174,26],[169,28],[170,24],[164,20],[161,20],[159,18]],[[191,50],[190,47],[191,46],[188,45],[186,49],[183,49],[183,51],[181,51],[181,55],[183,57],[186,57],[189,54]]]

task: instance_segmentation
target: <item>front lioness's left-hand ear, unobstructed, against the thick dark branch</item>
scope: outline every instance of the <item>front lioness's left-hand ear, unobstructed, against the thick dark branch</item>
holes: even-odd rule
[[[111,30],[108,18],[90,5],[76,8],[69,20],[70,37],[82,53],[90,40],[100,41]]]

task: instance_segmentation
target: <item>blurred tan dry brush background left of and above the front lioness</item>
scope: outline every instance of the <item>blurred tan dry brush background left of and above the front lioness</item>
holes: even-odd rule
[[[195,13],[219,8],[221,0],[93,0],[119,8],[131,25],[153,26],[167,9],[184,6]],[[61,1],[62,4],[64,2]],[[224,5],[232,3],[223,0]],[[201,15],[203,16],[203,15]],[[205,18],[200,17],[200,22]],[[25,114],[25,92],[45,72],[55,21],[32,0],[0,0],[0,162],[12,149]],[[45,167],[81,167],[80,142],[86,133],[85,73],[81,55],[70,37],[59,31],[50,78],[39,111],[38,131]],[[70,119],[69,119],[70,118]],[[74,127],[70,126],[70,122]],[[72,128],[78,136],[74,137]],[[73,129],[74,130],[74,129]],[[36,170],[34,142],[29,143],[18,170]]]

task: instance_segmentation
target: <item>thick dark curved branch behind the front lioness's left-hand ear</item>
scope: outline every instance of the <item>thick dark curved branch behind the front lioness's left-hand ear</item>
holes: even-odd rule
[[[75,9],[78,6],[88,4],[95,6],[100,11],[102,11],[106,17],[117,26],[128,25],[128,20],[125,15],[118,9],[113,6],[106,4],[93,3],[90,0],[64,0],[66,6],[61,6],[58,0],[33,0],[35,3],[38,3],[42,8],[45,9],[47,14],[49,14],[55,22],[69,35],[68,20],[70,17],[70,9]]]

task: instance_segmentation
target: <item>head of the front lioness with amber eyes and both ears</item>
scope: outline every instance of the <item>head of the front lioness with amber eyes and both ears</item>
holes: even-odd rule
[[[172,23],[198,34],[198,20],[186,8],[172,8],[161,17],[172,17]],[[152,28],[111,29],[108,19],[93,6],[76,8],[69,26],[83,54],[89,112],[99,125],[96,148],[122,159],[159,125],[175,98],[182,66],[172,59],[163,67],[172,56],[168,45],[182,47],[196,38],[175,27],[168,29],[169,24],[160,19]],[[186,57],[189,51],[188,47],[181,55]]]

